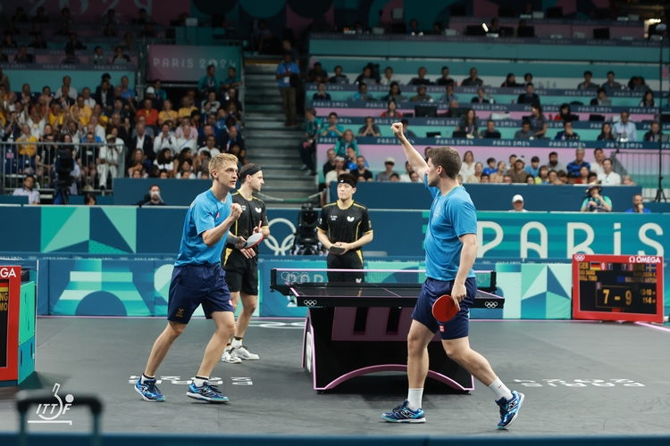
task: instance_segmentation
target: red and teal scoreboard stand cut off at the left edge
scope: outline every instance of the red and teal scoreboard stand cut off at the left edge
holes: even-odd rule
[[[35,284],[21,285],[21,267],[0,266],[0,386],[35,371]]]

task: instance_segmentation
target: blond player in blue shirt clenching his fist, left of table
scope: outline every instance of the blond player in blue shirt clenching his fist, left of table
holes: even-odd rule
[[[209,374],[235,332],[230,292],[220,265],[223,241],[235,244],[245,255],[253,255],[249,252],[253,250],[243,248],[244,237],[229,234],[230,226],[242,214],[242,208],[230,197],[238,180],[237,157],[219,153],[209,162],[209,170],[213,178],[212,188],[197,195],[186,213],[180,253],[174,263],[170,284],[168,325],[156,339],[147,368],[135,384],[135,390],[146,401],[165,401],[155,386],[155,372],[198,305],[203,306],[206,318],[214,319],[216,332],[205,348],[196,379],[188,386],[186,394],[201,401],[228,401],[222,392],[208,383]]]

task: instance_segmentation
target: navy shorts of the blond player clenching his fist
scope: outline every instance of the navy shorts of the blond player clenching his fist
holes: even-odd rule
[[[219,265],[183,265],[172,270],[168,320],[188,324],[198,305],[203,306],[205,318],[214,311],[232,312],[226,273]]]

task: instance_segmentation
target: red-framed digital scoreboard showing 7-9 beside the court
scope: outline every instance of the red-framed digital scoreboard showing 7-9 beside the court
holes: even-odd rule
[[[573,318],[663,322],[663,257],[575,254]]]

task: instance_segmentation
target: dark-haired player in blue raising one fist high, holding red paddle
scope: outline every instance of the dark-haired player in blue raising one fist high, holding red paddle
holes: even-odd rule
[[[432,195],[426,230],[426,281],[412,313],[407,335],[407,399],[381,417],[394,423],[424,423],[423,383],[428,374],[428,344],[440,331],[449,358],[470,372],[496,395],[500,408],[498,429],[506,429],[519,413],[523,393],[510,391],[490,367],[489,361],[470,348],[468,313],[477,293],[473,263],[477,256],[477,212],[470,195],[458,184],[460,155],[451,147],[431,149],[428,161],[409,144],[400,123],[391,126],[403,146],[412,169],[423,178]],[[443,294],[451,295],[459,309],[446,323],[432,316],[432,304]]]

